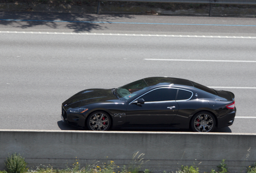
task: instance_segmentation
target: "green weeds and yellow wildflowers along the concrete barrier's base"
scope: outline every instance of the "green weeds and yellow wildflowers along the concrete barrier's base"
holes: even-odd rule
[[[5,166],[6,170],[0,171],[0,173],[151,173],[149,169],[142,170],[142,165],[147,161],[144,160],[145,154],[134,153],[132,160],[129,165],[119,167],[116,166],[114,161],[99,164],[99,161],[95,164],[87,165],[82,167],[79,164],[79,159],[75,159],[72,167],[66,169],[53,169],[51,166],[36,167],[36,169],[29,170],[25,158],[20,154],[14,153],[6,158]],[[107,157],[106,157],[107,158]],[[227,164],[223,159],[220,165],[217,166],[218,171],[211,170],[211,173],[228,173]],[[163,171],[163,173],[167,173]],[[173,173],[173,172],[172,172]],[[192,166],[181,166],[181,168],[175,173],[199,173],[199,168],[195,165]],[[256,173],[256,163],[247,168],[247,173]]]

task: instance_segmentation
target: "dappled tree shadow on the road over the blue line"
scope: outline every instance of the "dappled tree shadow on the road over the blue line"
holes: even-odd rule
[[[0,12],[0,26],[12,26],[16,28],[33,28],[35,26],[47,26],[58,28],[65,23],[64,27],[72,29],[72,32],[90,32],[106,28],[102,23],[120,18],[132,18],[126,14],[94,15],[83,13],[40,13],[40,12]]]

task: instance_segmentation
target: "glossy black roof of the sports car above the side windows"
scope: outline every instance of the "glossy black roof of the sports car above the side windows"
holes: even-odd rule
[[[149,77],[149,78],[144,78],[144,80],[151,88],[161,87],[161,86],[170,86],[170,85],[184,85],[184,86],[194,87],[194,85],[190,80],[182,79],[182,78]]]

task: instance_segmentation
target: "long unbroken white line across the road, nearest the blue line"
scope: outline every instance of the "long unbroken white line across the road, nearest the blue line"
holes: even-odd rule
[[[251,36],[197,36],[197,35],[158,35],[158,34],[103,34],[103,33],[76,33],[76,32],[18,32],[18,31],[0,31],[0,33],[15,34],[70,34],[70,35],[104,35],[104,36],[157,36],[157,37],[188,37],[188,38],[249,38],[256,39]]]

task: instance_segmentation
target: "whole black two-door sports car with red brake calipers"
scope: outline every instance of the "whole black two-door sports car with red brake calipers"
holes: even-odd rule
[[[189,129],[233,124],[235,95],[181,78],[150,77],[114,89],[87,89],[62,103],[62,121],[76,127]]]

